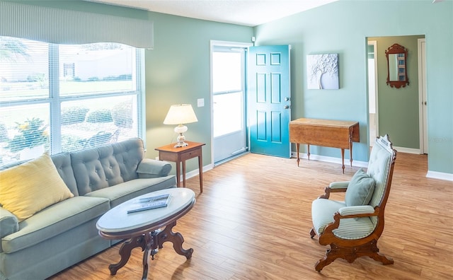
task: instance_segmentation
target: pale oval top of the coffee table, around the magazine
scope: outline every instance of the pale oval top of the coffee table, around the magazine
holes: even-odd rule
[[[139,198],[154,197],[159,194],[168,193],[171,194],[171,200],[168,203],[168,206],[127,214],[127,210],[131,209],[132,204],[137,203]],[[194,200],[195,193],[193,190],[185,187],[161,189],[156,192],[150,192],[113,207],[99,218],[98,223],[96,223],[96,228],[104,233],[133,231],[137,228],[158,223],[165,218],[177,214],[189,204],[193,204]]]

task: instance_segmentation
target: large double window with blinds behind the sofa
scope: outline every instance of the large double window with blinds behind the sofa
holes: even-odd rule
[[[0,36],[0,165],[141,137],[141,53]]]

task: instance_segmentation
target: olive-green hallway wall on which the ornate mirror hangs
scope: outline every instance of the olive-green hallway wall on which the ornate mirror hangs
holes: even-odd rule
[[[379,109],[379,134],[391,135],[394,146],[420,148],[418,114],[418,39],[425,36],[369,37],[377,42],[377,86]],[[399,44],[408,49],[406,67],[409,85],[391,88],[387,81],[386,50]]]

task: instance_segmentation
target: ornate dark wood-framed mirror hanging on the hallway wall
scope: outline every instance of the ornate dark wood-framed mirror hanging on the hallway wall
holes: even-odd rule
[[[408,49],[394,44],[385,51],[385,56],[387,58],[387,85],[392,88],[404,88],[406,84],[409,84],[406,68]]]

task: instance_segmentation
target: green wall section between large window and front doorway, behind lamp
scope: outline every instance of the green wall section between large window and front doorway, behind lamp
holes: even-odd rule
[[[146,57],[147,156],[176,141],[175,126],[162,124],[172,104],[190,103],[198,122],[187,124],[189,141],[203,142],[203,165],[211,162],[210,40],[250,42],[253,28],[151,13],[154,49]],[[197,99],[205,107],[197,107]],[[188,170],[197,161],[188,161]]]

